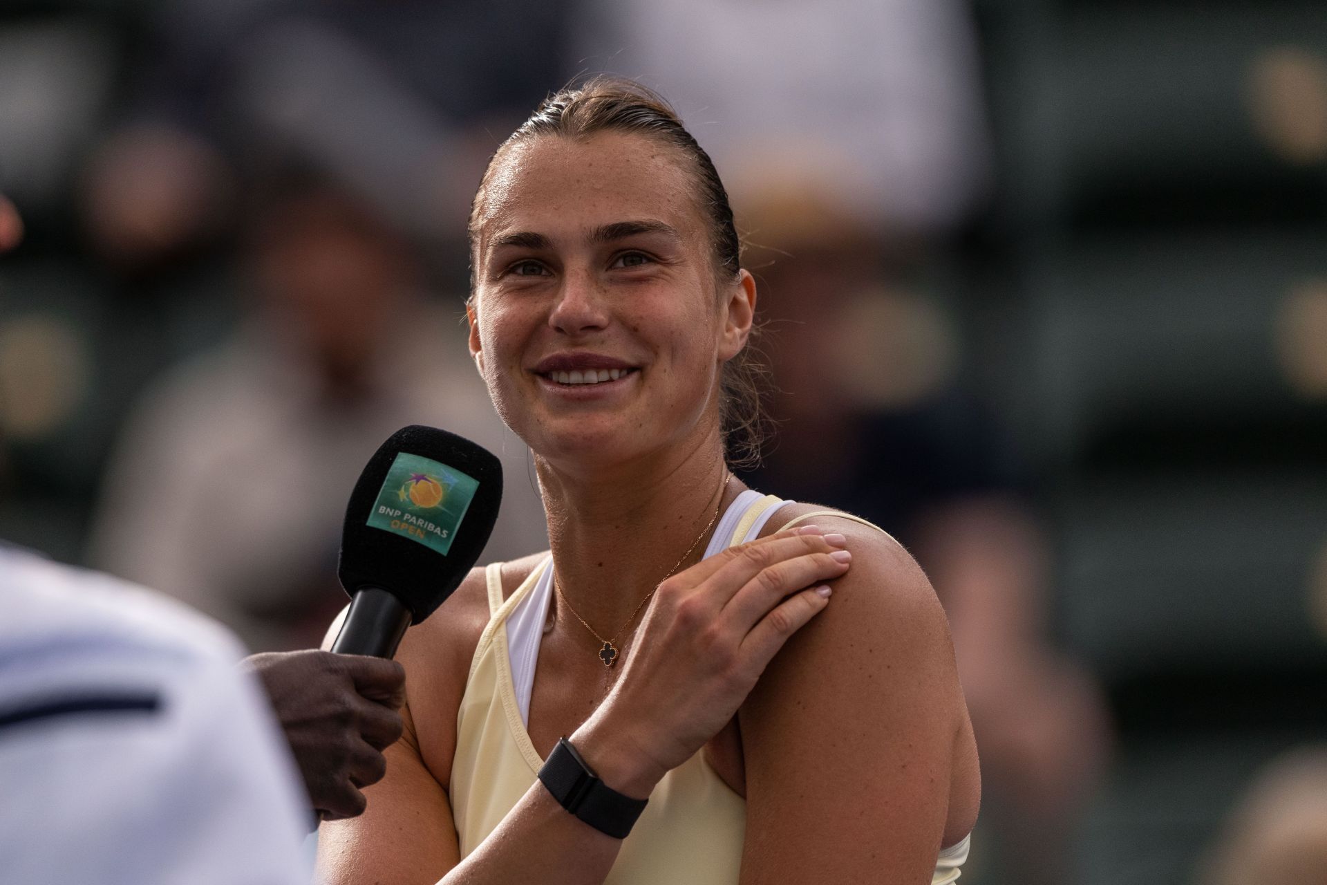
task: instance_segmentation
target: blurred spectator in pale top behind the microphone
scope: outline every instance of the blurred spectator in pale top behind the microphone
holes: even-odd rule
[[[107,471],[92,561],[162,588],[251,650],[314,647],[345,597],[345,499],[389,434],[438,425],[503,458],[488,556],[543,541],[524,444],[464,357],[455,312],[421,293],[413,245],[326,178],[261,188],[249,316],[130,417]],[[449,342],[451,346],[449,348]]]

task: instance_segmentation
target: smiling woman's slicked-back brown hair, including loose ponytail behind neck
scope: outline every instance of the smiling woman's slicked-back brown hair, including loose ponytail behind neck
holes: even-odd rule
[[[740,273],[742,240],[733,223],[729,194],[719,172],[705,149],[683,126],[677,111],[662,96],[641,84],[621,77],[598,76],[580,86],[561,89],[539,105],[533,114],[504,141],[479,183],[470,207],[467,228],[471,253],[471,291],[474,289],[474,255],[479,243],[479,223],[488,180],[512,146],[535,138],[556,135],[585,139],[598,133],[630,133],[653,138],[677,149],[695,182],[697,204],[710,230],[710,249],[721,287],[735,283]],[[735,468],[754,467],[760,460],[760,444],[767,419],[762,409],[768,369],[754,346],[756,328],[747,346],[723,365],[719,395],[719,421],[729,463]]]

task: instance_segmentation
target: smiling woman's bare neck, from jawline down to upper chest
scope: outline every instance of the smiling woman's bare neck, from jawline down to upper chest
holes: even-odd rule
[[[742,490],[731,480],[721,498],[727,466],[717,435],[687,451],[609,470],[569,472],[543,459],[536,468],[557,585],[605,638],[670,569],[699,561],[715,512]]]

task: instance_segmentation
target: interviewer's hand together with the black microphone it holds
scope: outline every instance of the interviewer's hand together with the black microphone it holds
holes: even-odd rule
[[[418,425],[393,434],[350,494],[337,576],[350,609],[332,651],[256,654],[263,681],[322,820],[354,817],[360,788],[386,774],[402,732],[405,670],[390,661],[406,628],[446,601],[498,520],[502,463]]]

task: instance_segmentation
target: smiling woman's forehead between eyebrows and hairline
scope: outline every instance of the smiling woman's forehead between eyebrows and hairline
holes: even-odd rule
[[[695,182],[679,149],[624,133],[587,139],[541,135],[518,143],[488,178],[479,247],[503,231],[572,235],[624,219],[703,231]]]

